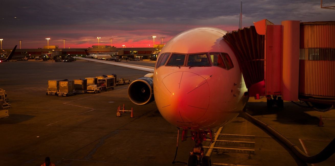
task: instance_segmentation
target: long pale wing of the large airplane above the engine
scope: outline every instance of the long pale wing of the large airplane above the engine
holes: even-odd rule
[[[111,62],[111,61],[97,60],[97,59],[91,59],[91,58],[81,58],[81,57],[73,57],[73,58],[83,59],[86,61],[93,61],[93,62],[98,62],[98,63],[105,63],[109,65],[120,66],[120,67],[125,67],[125,68],[130,68],[130,69],[136,69],[136,70],[146,71],[150,73],[153,73],[153,70],[154,70],[154,67],[151,67],[151,66],[134,65],[134,64],[121,63],[121,62]]]

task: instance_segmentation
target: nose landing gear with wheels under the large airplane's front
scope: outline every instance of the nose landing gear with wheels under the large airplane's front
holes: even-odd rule
[[[204,155],[204,148],[202,146],[202,142],[206,141],[207,139],[207,133],[210,133],[211,131],[193,131],[191,132],[192,140],[195,141],[195,146],[193,148],[193,151],[190,152],[190,157],[188,160],[187,165],[188,166],[211,166],[211,160],[209,156]]]

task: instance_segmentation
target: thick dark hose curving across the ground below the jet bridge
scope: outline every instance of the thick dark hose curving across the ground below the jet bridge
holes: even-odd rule
[[[261,126],[263,129],[270,132],[272,135],[274,135],[277,139],[279,139],[282,143],[284,143],[289,149],[292,150],[292,152],[302,161],[310,164],[320,163],[322,161],[325,161],[330,156],[332,156],[335,153],[335,139],[331,141],[328,146],[323,149],[319,154],[314,156],[308,156],[306,155],[302,150],[300,150],[295,144],[293,144],[290,140],[288,140],[286,137],[278,133],[276,130],[274,130],[272,127],[264,123],[263,121],[251,116],[247,112],[242,112],[242,116],[244,116],[246,119],[251,120],[251,122],[256,123],[257,125]]]

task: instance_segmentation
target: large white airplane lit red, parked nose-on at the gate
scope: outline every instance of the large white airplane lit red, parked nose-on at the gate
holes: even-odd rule
[[[137,105],[154,100],[183,138],[191,131],[195,146],[188,165],[208,166],[202,142],[208,133],[213,139],[212,131],[237,117],[249,99],[237,58],[222,37],[226,33],[213,27],[181,32],[162,48],[155,67],[74,58],[149,72],[129,85],[129,99]]]

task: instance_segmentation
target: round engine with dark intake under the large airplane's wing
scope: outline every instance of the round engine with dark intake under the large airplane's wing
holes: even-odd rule
[[[128,87],[130,101],[137,105],[144,105],[152,102],[153,80],[150,77],[141,77],[134,80]]]

